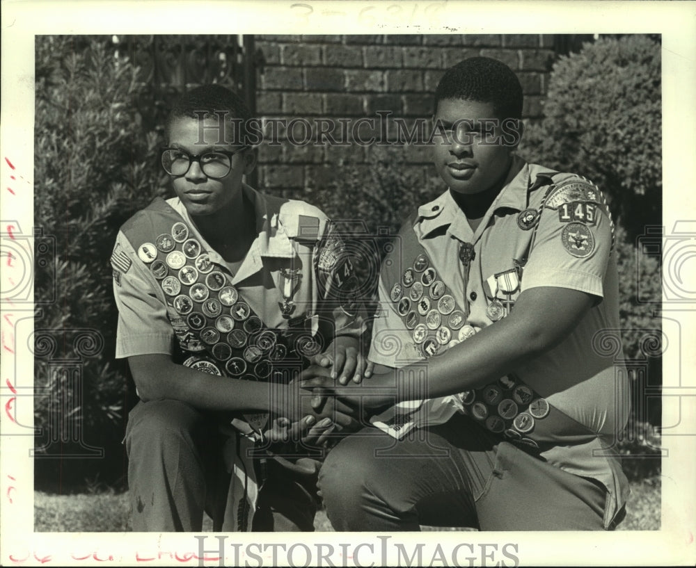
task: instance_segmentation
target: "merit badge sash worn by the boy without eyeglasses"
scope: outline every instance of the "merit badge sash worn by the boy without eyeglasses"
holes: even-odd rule
[[[389,300],[406,330],[411,332],[416,350],[427,359],[466,341],[478,330],[467,321],[468,306],[459,305],[416,234],[408,231],[402,236],[406,268],[402,274],[395,275],[388,267],[398,263],[385,263],[383,278],[386,283],[393,282]],[[460,251],[462,262],[470,262],[474,256],[473,248],[463,247]],[[500,285],[512,292],[519,282],[513,275],[500,275]],[[455,412],[461,412],[494,434],[539,448],[535,434],[541,430],[539,425],[548,420],[551,410],[551,405],[531,387],[507,375],[480,389],[396,405],[375,416],[372,423],[400,439],[413,428],[445,423]]]

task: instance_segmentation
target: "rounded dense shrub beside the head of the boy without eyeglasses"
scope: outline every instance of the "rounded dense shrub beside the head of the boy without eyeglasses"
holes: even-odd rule
[[[629,238],[661,217],[660,50],[645,35],[626,35],[561,57],[544,120],[523,140],[531,161],[592,179]]]

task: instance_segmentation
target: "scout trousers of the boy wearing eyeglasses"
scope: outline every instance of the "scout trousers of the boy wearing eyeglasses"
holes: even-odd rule
[[[210,416],[177,400],[138,403],[128,416],[126,449],[134,531],[195,531],[203,512],[223,529],[230,473],[227,437]],[[253,530],[314,530],[316,503],[301,484],[269,467]],[[229,530],[229,529],[226,529]]]

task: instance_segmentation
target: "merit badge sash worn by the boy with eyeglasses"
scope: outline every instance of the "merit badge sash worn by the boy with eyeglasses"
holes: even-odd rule
[[[176,362],[212,375],[289,382],[288,371],[301,371],[306,358],[322,350],[321,338],[310,330],[267,327],[164,200],[155,200],[144,211],[148,222],[141,218],[125,225],[124,233],[178,314],[170,318],[180,347]],[[283,297],[292,305],[292,286]],[[244,419],[248,426],[238,419],[233,425],[258,437],[269,415],[244,414]]]

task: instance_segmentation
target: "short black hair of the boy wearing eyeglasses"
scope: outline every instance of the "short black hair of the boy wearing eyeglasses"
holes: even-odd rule
[[[166,139],[169,140],[171,124],[176,118],[207,118],[215,117],[220,113],[225,114],[228,120],[235,121],[236,128],[232,129],[230,138],[235,143],[246,144],[247,122],[251,120],[251,111],[244,99],[236,92],[216,83],[184,91],[176,99],[167,117],[164,133]]]

